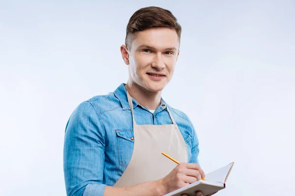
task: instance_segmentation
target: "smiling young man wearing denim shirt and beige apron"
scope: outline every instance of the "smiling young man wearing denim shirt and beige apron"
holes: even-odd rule
[[[161,98],[174,73],[180,34],[168,10],[146,7],[132,15],[120,48],[127,84],[81,103],[66,125],[68,196],[162,196],[205,177],[192,123]]]

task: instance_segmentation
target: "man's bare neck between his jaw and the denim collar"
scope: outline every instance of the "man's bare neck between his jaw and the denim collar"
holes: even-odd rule
[[[161,91],[149,91],[134,82],[130,82],[129,80],[126,85],[129,95],[137,100],[140,105],[148,108],[149,110],[155,110],[160,105]]]

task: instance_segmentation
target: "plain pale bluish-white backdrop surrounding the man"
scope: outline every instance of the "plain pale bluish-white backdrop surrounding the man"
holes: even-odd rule
[[[1,0],[1,196],[65,196],[66,122],[127,81],[119,47],[151,5],[183,28],[163,98],[194,123],[206,172],[236,163],[216,196],[294,195],[294,0]]]

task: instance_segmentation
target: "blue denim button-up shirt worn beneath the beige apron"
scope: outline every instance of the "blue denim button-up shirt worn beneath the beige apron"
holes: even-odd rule
[[[198,163],[199,141],[189,118],[161,99],[152,114],[133,99],[137,124],[172,124],[167,107],[188,149],[188,162]],[[103,196],[131,159],[134,140],[132,116],[124,84],[115,92],[82,102],[65,128],[63,168],[68,196]],[[136,138],[135,138],[136,140]]]

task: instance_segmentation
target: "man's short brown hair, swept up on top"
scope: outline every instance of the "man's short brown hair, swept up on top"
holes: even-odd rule
[[[136,32],[152,27],[175,29],[180,42],[181,26],[177,23],[177,18],[167,9],[151,6],[141,8],[131,16],[126,28],[125,45],[132,42]]]

